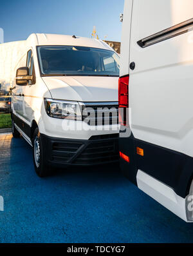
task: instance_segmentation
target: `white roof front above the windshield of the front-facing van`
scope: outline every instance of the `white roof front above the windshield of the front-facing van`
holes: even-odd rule
[[[107,43],[102,40],[91,39],[87,37],[73,37],[73,35],[57,35],[57,34],[31,34],[26,40],[27,44],[38,45],[72,45],[87,46],[93,48],[102,48],[113,50]]]

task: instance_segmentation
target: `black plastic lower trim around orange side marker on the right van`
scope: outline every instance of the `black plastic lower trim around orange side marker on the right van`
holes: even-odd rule
[[[188,195],[193,177],[193,158],[158,145],[130,137],[120,137],[119,147],[131,161],[120,159],[120,166],[127,177],[137,185],[138,170],[142,170],[154,179],[174,190],[180,197]],[[144,155],[136,153],[136,147],[143,148]]]

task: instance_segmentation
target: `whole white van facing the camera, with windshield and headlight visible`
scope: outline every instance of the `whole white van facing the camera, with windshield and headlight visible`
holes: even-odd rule
[[[12,133],[33,146],[37,175],[118,161],[118,77],[119,57],[103,41],[28,37],[15,64]]]

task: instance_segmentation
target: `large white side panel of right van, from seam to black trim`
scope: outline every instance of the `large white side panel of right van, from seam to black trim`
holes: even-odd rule
[[[193,156],[192,0],[134,0],[129,63],[129,107],[136,139]],[[158,32],[183,23],[174,37]],[[181,28],[181,26],[177,26]],[[172,31],[174,31],[173,28]],[[153,36],[152,44],[144,39]],[[151,39],[151,37],[150,37]],[[161,39],[161,40],[158,40]],[[150,42],[149,41],[149,42]],[[145,46],[144,46],[145,45]]]

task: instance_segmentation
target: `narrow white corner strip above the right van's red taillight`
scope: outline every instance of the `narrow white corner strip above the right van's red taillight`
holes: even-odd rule
[[[129,49],[131,35],[131,15],[133,8],[133,0],[125,1],[124,6],[124,23],[122,25],[122,44],[120,57],[120,77],[129,74]]]

